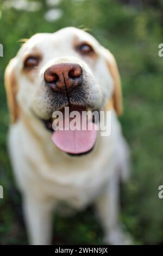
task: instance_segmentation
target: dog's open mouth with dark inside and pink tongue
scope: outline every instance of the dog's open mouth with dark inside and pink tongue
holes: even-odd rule
[[[72,121],[74,119],[70,115],[66,115],[66,107],[60,109],[63,117],[63,124],[68,125],[62,126],[62,128],[53,130],[53,120],[43,120],[46,128],[52,131],[53,143],[62,151],[68,155],[79,156],[90,153],[95,146],[97,138],[96,124],[93,118],[83,118],[83,112],[86,113],[86,107],[69,105],[69,114],[73,111],[78,112],[78,119],[76,117],[75,126],[76,129],[72,129]],[[74,113],[74,112],[73,112]],[[90,129],[91,127],[91,129]]]

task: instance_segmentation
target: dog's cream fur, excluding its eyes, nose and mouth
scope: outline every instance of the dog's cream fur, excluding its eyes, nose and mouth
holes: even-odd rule
[[[93,45],[96,58],[80,57],[74,51],[74,41],[87,41]],[[27,75],[22,71],[23,59],[31,52],[41,53],[42,62],[38,69]],[[104,227],[105,242],[130,243],[118,220],[118,181],[128,176],[128,147],[115,110],[110,109],[111,135],[101,137],[99,134],[95,149],[80,157],[68,156],[55,147],[51,133],[33,114],[49,117],[48,101],[43,97],[46,94],[43,72],[65,58],[82,66],[89,85],[85,89],[92,95],[88,101],[104,109],[114,95],[120,113],[121,89],[117,82],[119,78],[115,78],[118,71],[115,70],[115,60],[112,62],[110,55],[105,53],[106,50],[91,35],[76,28],[65,28],[53,34],[34,35],[12,62],[12,73],[17,81],[16,106],[12,107],[20,111],[12,118],[9,151],[17,185],[23,194],[24,215],[32,244],[51,243],[52,209],[57,210],[59,202],[66,202],[76,209],[95,203]],[[8,80],[8,71],[5,76]],[[12,86],[12,82],[7,86]]]

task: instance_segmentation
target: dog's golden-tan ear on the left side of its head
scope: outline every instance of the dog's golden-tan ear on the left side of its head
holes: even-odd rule
[[[11,59],[4,74],[5,89],[7,92],[8,107],[11,115],[11,123],[18,118],[18,106],[16,102],[17,83],[14,74],[15,59]]]

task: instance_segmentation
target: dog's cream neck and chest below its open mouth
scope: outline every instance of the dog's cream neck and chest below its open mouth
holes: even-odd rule
[[[64,160],[58,151],[52,152],[50,145],[46,150],[40,147],[28,133],[22,135],[26,138],[26,143],[22,144],[20,134],[17,129],[10,133],[12,163],[18,184],[32,196],[66,201],[80,208],[98,196],[114,169],[114,144],[108,147],[106,139],[93,154]],[[17,151],[12,147],[15,144],[18,144]],[[104,145],[107,145],[107,150]]]

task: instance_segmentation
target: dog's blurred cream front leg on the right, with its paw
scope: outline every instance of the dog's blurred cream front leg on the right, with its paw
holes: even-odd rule
[[[125,234],[119,221],[119,174],[114,172],[105,190],[96,200],[97,214],[103,225],[105,243],[111,245],[128,245],[130,237]]]

